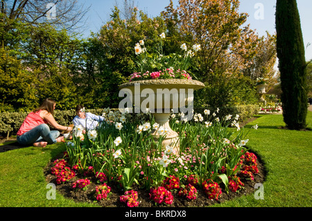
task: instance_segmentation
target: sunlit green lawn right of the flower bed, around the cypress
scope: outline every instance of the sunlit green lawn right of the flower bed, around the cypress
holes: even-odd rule
[[[307,123],[308,131],[284,130],[280,129],[285,126],[283,116],[265,115],[246,125],[259,126],[247,138],[248,147],[261,156],[268,170],[264,200],[248,195],[216,206],[312,206],[312,112]]]

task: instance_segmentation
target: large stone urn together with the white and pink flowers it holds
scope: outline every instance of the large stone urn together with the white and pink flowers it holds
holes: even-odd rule
[[[164,33],[159,35],[162,48]],[[182,121],[193,118],[193,91],[202,89],[205,85],[192,80],[186,69],[194,53],[200,50],[200,45],[193,45],[187,51],[182,44],[184,55],[162,55],[148,53],[144,40],[135,46],[135,53],[139,56],[137,62],[139,71],[130,76],[130,81],[119,86],[119,96],[125,96],[119,108],[134,105],[135,113],[150,112],[155,118],[157,127],[152,132],[156,140],[165,136],[162,146],[170,145],[179,154],[180,139],[177,132],[171,130],[169,116],[172,113],[183,113]],[[161,50],[162,51],[162,50]]]

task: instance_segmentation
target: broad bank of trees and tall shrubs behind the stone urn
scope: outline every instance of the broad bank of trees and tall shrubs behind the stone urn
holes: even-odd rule
[[[157,17],[137,8],[129,8],[123,17],[114,8],[110,21],[88,39],[49,24],[31,25],[5,17],[0,24],[1,111],[27,112],[46,97],[54,98],[62,110],[78,103],[94,109],[117,107],[119,85],[139,71],[135,44],[141,39],[146,48],[162,50],[164,55],[180,54],[184,43],[188,48],[200,44],[202,50],[188,70],[207,85],[196,91],[198,106],[252,104],[257,100],[252,71],[272,73],[274,36],[259,39],[248,27],[240,28],[246,15],[238,12],[238,3],[180,1],[173,8],[171,1]],[[166,33],[163,42],[161,33]],[[150,56],[155,58],[156,51],[149,51]]]

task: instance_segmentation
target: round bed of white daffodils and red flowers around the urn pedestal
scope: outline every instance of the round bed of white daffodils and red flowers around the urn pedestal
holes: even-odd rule
[[[238,116],[205,113],[191,122],[172,116],[180,134],[178,155],[150,136],[153,118],[128,122],[123,115],[123,122],[105,122],[96,136],[67,141],[67,152],[51,163],[48,177],[64,195],[102,206],[200,206],[254,191],[262,170],[245,148]]]

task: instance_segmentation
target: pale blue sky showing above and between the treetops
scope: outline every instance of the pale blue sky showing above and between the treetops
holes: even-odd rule
[[[132,0],[129,0],[132,2]],[[110,19],[112,8],[119,4],[122,6],[123,0],[78,0],[84,3],[86,7],[91,6],[87,13],[87,23],[83,35],[86,37],[90,31],[97,33],[101,26]],[[275,0],[241,0],[240,12],[247,12],[249,17],[246,24],[255,29],[259,35],[266,35],[266,30],[270,34],[275,33]],[[169,4],[169,0],[134,0],[135,6],[139,10],[147,12],[150,17],[159,15]],[[178,0],[173,0],[174,6],[177,6]],[[297,0],[297,6],[300,13],[302,34],[304,37],[304,46],[311,43],[306,48],[306,60],[312,59],[312,1]]]

